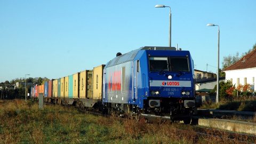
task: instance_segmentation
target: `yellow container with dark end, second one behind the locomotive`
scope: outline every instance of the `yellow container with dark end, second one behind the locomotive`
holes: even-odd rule
[[[79,98],[92,99],[92,70],[84,70],[79,76]]]

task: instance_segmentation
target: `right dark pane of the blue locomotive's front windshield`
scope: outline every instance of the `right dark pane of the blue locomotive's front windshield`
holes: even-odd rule
[[[170,57],[171,71],[189,71],[188,58]]]

